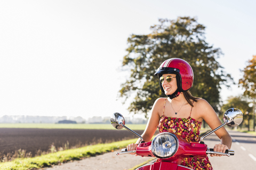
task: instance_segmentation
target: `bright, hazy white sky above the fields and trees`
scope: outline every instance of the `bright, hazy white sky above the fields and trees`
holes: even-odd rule
[[[158,19],[197,17],[235,82],[256,55],[255,1],[2,1],[0,116],[128,115],[117,92],[127,38]],[[223,100],[243,90],[223,88]]]

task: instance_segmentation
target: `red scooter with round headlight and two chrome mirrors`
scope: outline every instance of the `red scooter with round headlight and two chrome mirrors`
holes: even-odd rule
[[[222,125],[205,134],[201,138],[200,142],[197,143],[187,142],[186,140],[179,137],[179,135],[170,132],[159,133],[152,141],[143,142],[142,137],[138,133],[125,126],[124,117],[120,113],[114,113],[110,119],[114,128],[125,128],[141,138],[142,141],[136,150],[127,151],[127,149],[122,149],[122,152],[118,152],[116,155],[130,154],[135,152],[136,155],[142,157],[147,156],[158,158],[158,162],[143,165],[136,170],[186,170],[191,168],[180,165],[183,158],[205,158],[207,154],[218,154],[226,156],[234,155],[234,150],[226,150],[225,153],[214,152],[213,149],[208,148],[207,145],[205,145],[203,142],[205,137],[217,131],[222,126],[238,126],[243,121],[243,113],[237,108],[230,108],[223,115],[223,120],[224,123]]]

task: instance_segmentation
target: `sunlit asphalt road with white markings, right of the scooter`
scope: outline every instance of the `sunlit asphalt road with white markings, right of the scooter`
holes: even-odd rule
[[[229,131],[233,143],[232,150],[235,150],[234,156],[211,157],[213,169],[256,169],[256,137],[248,133]],[[219,138],[215,133],[204,139],[205,144],[209,148],[213,148],[219,143]]]

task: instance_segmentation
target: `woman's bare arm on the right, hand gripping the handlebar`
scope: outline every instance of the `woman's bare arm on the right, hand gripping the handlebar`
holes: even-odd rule
[[[201,111],[200,114],[203,120],[210,126],[212,130],[222,124],[214,109],[211,107],[209,103],[207,103],[206,100],[199,99],[197,105],[199,107],[199,111]],[[231,148],[232,139],[224,127],[215,131],[215,134],[219,137],[220,143],[214,146],[214,151],[225,152],[226,149]],[[211,154],[211,156],[221,155]]]

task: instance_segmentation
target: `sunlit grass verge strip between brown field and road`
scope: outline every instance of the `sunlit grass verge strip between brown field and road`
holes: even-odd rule
[[[124,148],[130,143],[135,143],[137,139],[125,140],[120,142],[98,144],[93,146],[86,146],[83,148],[69,149],[55,152],[34,158],[15,159],[11,162],[0,163],[0,169],[3,170],[27,170],[39,169],[43,167],[50,167],[68,162],[70,160],[79,160],[84,157],[95,156],[104,152],[114,151],[119,148]]]

